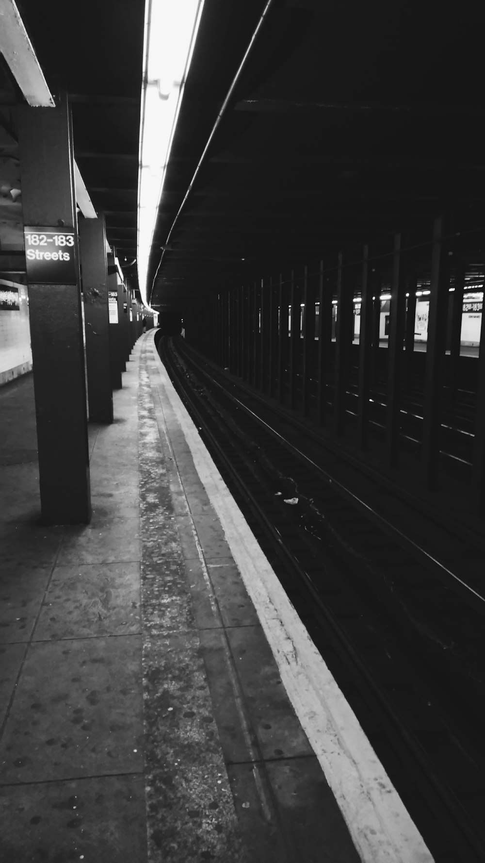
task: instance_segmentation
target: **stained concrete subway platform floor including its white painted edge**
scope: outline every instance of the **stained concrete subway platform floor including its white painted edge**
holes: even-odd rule
[[[431,860],[143,335],[89,425],[89,526],[40,523],[0,389],[2,863]]]

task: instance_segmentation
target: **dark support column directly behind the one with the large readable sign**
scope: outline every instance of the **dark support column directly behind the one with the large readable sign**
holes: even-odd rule
[[[104,216],[79,223],[79,252],[85,299],[86,373],[89,420],[113,422],[110,318]]]

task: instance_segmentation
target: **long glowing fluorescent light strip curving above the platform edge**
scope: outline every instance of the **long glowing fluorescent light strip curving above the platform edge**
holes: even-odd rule
[[[146,0],[138,169],[138,284],[148,307],[148,258],[204,0]]]

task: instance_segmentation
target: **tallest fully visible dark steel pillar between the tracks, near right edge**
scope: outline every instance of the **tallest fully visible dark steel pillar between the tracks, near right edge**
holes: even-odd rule
[[[422,462],[425,484],[436,488],[446,341],[449,265],[444,217],[435,219],[431,252],[430,310],[426,344],[425,400],[423,408]]]

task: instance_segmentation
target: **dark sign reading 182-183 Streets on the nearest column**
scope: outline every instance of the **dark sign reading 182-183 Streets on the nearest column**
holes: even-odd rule
[[[23,229],[27,280],[36,284],[75,285],[74,232],[63,228]]]

